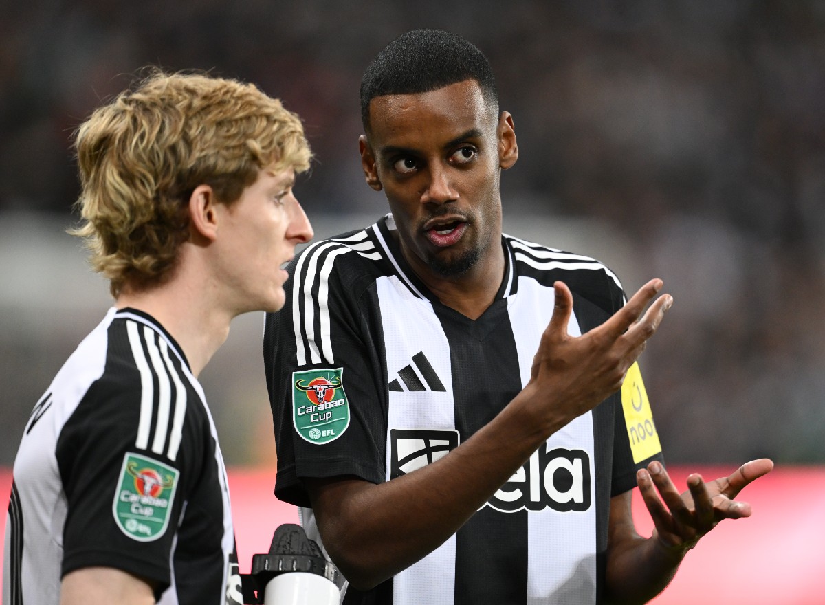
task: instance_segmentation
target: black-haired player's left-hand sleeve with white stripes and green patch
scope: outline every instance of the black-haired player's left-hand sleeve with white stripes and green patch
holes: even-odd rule
[[[290,267],[285,307],[266,316],[276,495],[298,506],[310,505],[304,478],[384,480],[382,336],[371,333],[378,305],[357,261],[346,248],[310,248]]]

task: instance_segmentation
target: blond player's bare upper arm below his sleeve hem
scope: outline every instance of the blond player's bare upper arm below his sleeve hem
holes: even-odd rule
[[[154,585],[111,567],[86,567],[64,576],[60,605],[153,605]]]

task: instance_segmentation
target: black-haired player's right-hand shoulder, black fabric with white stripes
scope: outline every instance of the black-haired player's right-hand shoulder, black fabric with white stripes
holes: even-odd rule
[[[563,281],[573,295],[592,302],[607,314],[615,313],[625,304],[625,291],[619,277],[596,258],[512,235],[505,235],[504,239],[512,251],[519,277],[535,279],[544,286]]]

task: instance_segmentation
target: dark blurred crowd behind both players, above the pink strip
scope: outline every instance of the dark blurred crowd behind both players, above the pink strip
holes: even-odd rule
[[[825,462],[825,2],[0,0],[0,466],[110,305],[65,234],[69,139],[144,65],[253,83],[304,119],[318,237],[384,197],[357,156],[370,58],[415,27],[488,54],[521,157],[508,233],[675,305],[641,364],[668,461]],[[201,375],[233,465],[274,464],[262,315]]]

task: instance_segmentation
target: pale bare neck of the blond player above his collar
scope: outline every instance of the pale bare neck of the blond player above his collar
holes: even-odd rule
[[[149,288],[126,286],[115,300],[115,307],[144,311],[157,319],[172,334],[189,360],[192,374],[198,376],[214,352],[229,336],[233,314],[218,309],[202,286],[191,287],[181,277]]]

